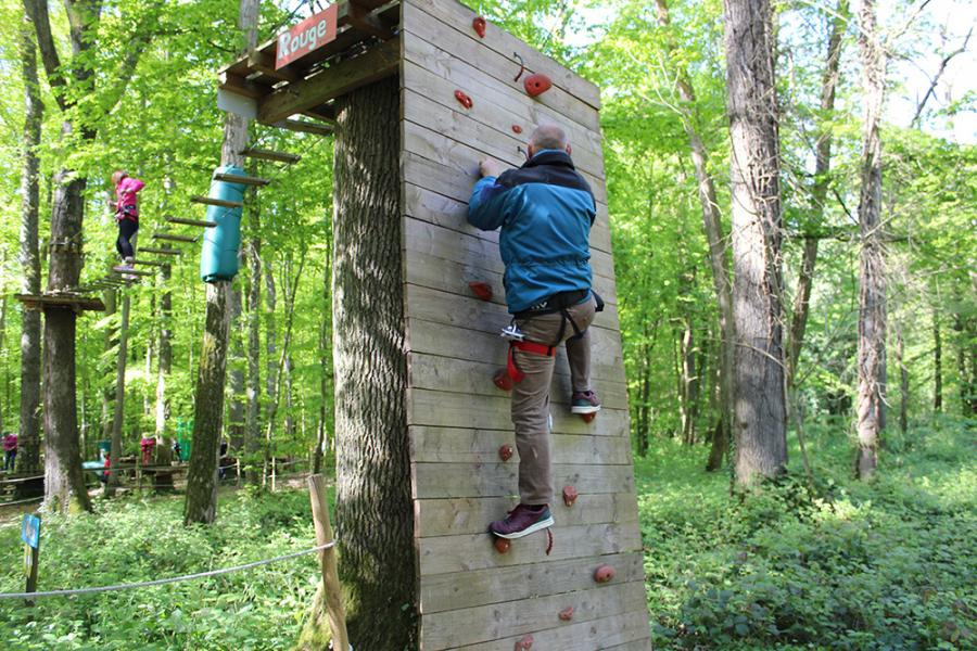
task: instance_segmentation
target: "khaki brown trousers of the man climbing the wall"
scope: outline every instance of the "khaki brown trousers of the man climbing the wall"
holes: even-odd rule
[[[583,332],[575,337],[568,321],[560,335],[562,316],[559,312],[540,315],[517,321],[525,339],[547,345],[567,342],[571,385],[574,392],[591,388],[591,335],[587,328],[594,320],[597,304],[591,298],[568,307],[567,311]],[[560,341],[556,341],[560,337]],[[516,448],[519,450],[519,499],[523,505],[548,505],[553,500],[553,478],[549,469],[549,385],[553,381],[554,357],[513,352],[516,365],[525,378],[512,388],[512,424],[516,426]],[[568,396],[569,397],[569,396]],[[569,409],[569,407],[568,407]]]

